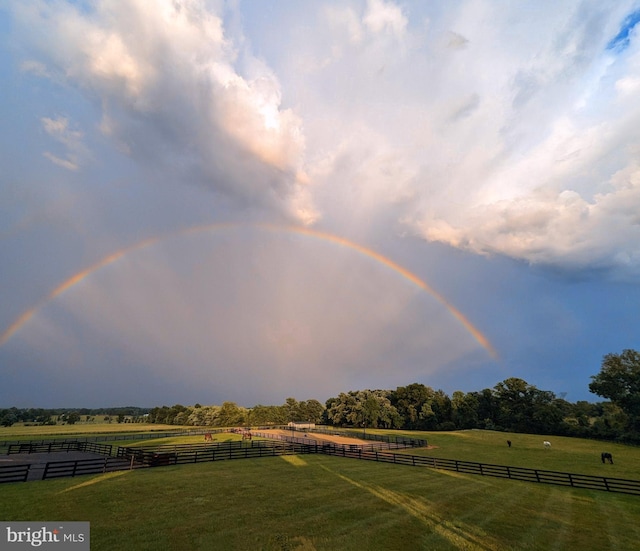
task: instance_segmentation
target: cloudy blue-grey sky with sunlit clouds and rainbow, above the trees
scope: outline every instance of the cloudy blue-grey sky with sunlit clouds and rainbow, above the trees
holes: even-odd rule
[[[629,0],[3,2],[0,407],[601,400],[639,35]]]

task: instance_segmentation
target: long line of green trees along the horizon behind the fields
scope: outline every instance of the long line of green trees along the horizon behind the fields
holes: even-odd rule
[[[280,406],[161,406],[73,410],[84,415],[135,416],[150,423],[211,427],[285,425],[311,422],[342,427],[407,430],[490,429],[556,434],[640,443],[640,352],[607,354],[589,390],[607,401],[568,402],[523,379],[510,377],[480,391],[443,390],[412,383],[395,390],[352,390],[325,404],[287,398]],[[0,424],[69,415],[71,410],[0,409]],[[56,412],[56,413],[54,413]],[[146,415],[145,415],[146,414]]]

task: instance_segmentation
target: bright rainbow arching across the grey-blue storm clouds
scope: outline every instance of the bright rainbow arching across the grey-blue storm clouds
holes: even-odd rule
[[[225,228],[234,228],[234,227],[251,227],[251,225],[243,225],[236,223],[220,223],[220,224],[208,224],[205,226],[193,226],[190,228],[186,228],[183,230],[178,230],[176,232],[163,234],[157,237],[151,237],[148,239],[144,239],[139,241],[138,243],[131,245],[129,247],[125,247],[116,251],[103,259],[99,260],[95,264],[92,264],[88,268],[76,273],[70,278],[63,281],[60,285],[58,285],[53,291],[51,291],[46,297],[40,300],[37,304],[31,307],[29,310],[22,313],[5,331],[0,335],[0,347],[3,346],[22,326],[24,326],[34,315],[35,313],[42,308],[48,302],[54,300],[56,297],[69,290],[71,287],[74,287],[84,279],[86,279],[91,274],[97,272],[98,270],[108,266],[109,264],[113,264],[123,256],[140,249],[144,249],[146,247],[150,247],[155,245],[156,243],[168,239],[170,237],[175,237],[176,235],[188,235],[192,233],[201,233],[205,231],[219,230]],[[363,256],[371,258],[376,262],[387,266],[391,270],[397,272],[405,279],[419,287],[420,289],[429,293],[433,298],[435,298],[438,302],[444,305],[447,310],[456,318],[462,326],[473,336],[473,338],[480,344],[493,358],[498,357],[498,353],[493,347],[493,345],[489,342],[489,340],[478,330],[465,316],[464,314],[458,310],[453,304],[451,304],[443,295],[438,293],[435,289],[433,289],[429,284],[420,279],[418,276],[402,267],[400,264],[397,264],[393,260],[387,258],[386,256],[374,251],[373,249],[369,249],[364,247],[363,245],[359,245],[350,241],[344,237],[340,237],[338,235],[327,233],[319,230],[313,230],[310,228],[305,228],[301,226],[278,226],[272,224],[256,224],[253,227],[259,229],[265,229],[269,231],[275,232],[288,232],[295,233],[299,235],[304,235],[308,237],[313,237],[316,239],[328,241],[330,243],[334,243],[336,245],[341,245],[343,247],[347,247],[353,251],[360,253]]]

